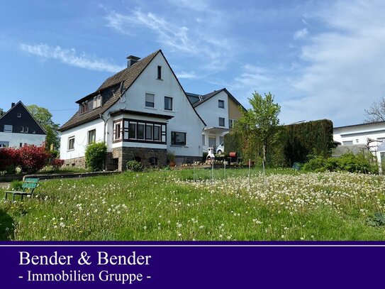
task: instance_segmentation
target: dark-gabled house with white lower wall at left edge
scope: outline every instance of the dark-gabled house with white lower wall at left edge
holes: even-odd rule
[[[11,109],[0,117],[0,147],[40,146],[45,135],[23,102],[12,103]]]

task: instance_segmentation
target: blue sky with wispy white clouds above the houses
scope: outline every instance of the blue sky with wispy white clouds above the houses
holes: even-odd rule
[[[385,96],[385,1],[3,1],[0,107],[64,124],[77,99],[162,49],[186,92],[272,92],[281,123],[364,121]]]

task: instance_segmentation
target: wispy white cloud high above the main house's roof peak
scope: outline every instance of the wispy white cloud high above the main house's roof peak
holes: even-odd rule
[[[208,24],[203,21],[197,24],[189,23],[176,18],[166,20],[155,13],[143,13],[134,11],[127,15],[111,11],[105,17],[107,26],[124,34],[133,35],[139,33],[138,28],[145,28],[152,31],[157,36],[157,42],[164,48],[167,48],[169,53],[183,58],[198,57],[199,67],[206,71],[224,70],[230,59],[235,55],[235,41],[230,41],[227,38],[221,37],[218,39],[216,35],[216,27],[222,23],[221,13],[212,12],[215,17]],[[184,23],[181,25],[178,23]],[[207,25],[206,29],[202,26]],[[218,40],[217,40],[218,39]],[[231,56],[231,57],[230,57]]]

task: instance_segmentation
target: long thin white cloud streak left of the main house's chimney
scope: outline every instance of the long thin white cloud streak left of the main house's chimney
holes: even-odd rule
[[[61,62],[72,65],[75,67],[86,68],[89,70],[106,71],[106,72],[118,72],[125,67],[114,65],[108,60],[99,59],[85,53],[77,54],[74,48],[66,49],[60,46],[50,46],[47,44],[35,44],[30,45],[21,43],[20,48],[27,53],[38,55],[42,58],[52,58],[60,60]]]

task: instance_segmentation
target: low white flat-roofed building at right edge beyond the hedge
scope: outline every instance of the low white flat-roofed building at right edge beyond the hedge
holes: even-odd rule
[[[368,139],[372,140],[369,143],[369,149],[374,153],[385,140],[385,121],[335,127],[333,139],[342,146],[367,145]]]

